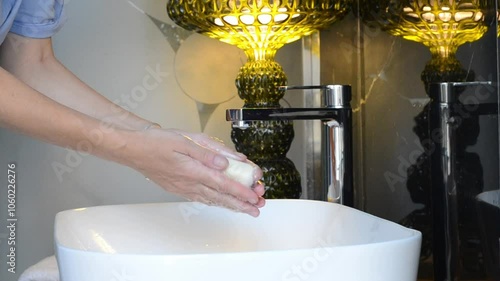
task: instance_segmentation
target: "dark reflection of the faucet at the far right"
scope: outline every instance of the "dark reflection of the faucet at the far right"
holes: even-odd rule
[[[460,98],[461,95],[466,95],[464,92],[466,87],[483,88],[482,91],[476,89],[472,96]],[[487,102],[487,96],[496,97],[497,91],[497,86],[491,81],[430,84],[431,101],[427,120],[429,122],[428,131],[431,133],[428,140],[431,141],[432,149],[426,150],[426,153],[429,153],[430,156],[429,171],[431,171],[429,198],[432,209],[434,280],[458,280],[459,276],[463,275],[461,249],[470,247],[462,245],[470,244],[467,242],[477,239],[473,236],[474,234],[471,236],[469,231],[463,231],[465,228],[470,228],[470,222],[467,222],[466,218],[460,217],[459,208],[463,207],[459,206],[467,200],[473,200],[465,197],[475,196],[473,195],[474,190],[483,187],[481,183],[478,185],[477,182],[480,181],[464,180],[464,177],[467,178],[464,176],[464,170],[467,175],[472,175],[470,178],[474,178],[477,174],[473,174],[471,170],[464,169],[460,165],[466,161],[464,159],[480,159],[480,157],[463,158],[461,155],[465,154],[471,141],[465,141],[463,137],[460,137],[465,130],[470,128],[471,124],[476,123],[474,126],[480,128],[479,117],[498,116],[496,98]],[[460,131],[462,133],[459,133]],[[466,134],[474,135],[474,132],[479,135],[479,130],[470,129],[467,130]],[[467,153],[471,152],[467,151]],[[480,160],[478,161],[479,166],[481,166]],[[482,175],[480,178],[482,179]],[[468,215],[470,212],[475,211],[473,209],[467,210]],[[463,226],[459,227],[460,225]]]

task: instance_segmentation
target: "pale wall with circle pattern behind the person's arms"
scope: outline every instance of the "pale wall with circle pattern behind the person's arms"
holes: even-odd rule
[[[69,21],[55,36],[54,48],[70,70],[109,99],[163,127],[203,131],[232,146],[224,111],[242,106],[234,87],[236,73],[245,61],[240,50],[175,29],[166,14],[165,0],[131,1],[136,7],[126,0],[66,2]],[[158,26],[139,10],[168,24]],[[287,52],[297,51],[300,44],[284,48],[279,54],[288,61],[297,55]],[[301,73],[297,63],[300,61],[284,63],[285,71],[290,67],[294,72],[288,73],[290,77],[300,77],[296,74]],[[138,95],[135,91],[141,89],[151,69],[162,73],[157,77],[158,86]],[[127,167],[5,129],[0,130],[0,145],[3,169],[0,170],[0,280],[3,281],[17,280],[28,266],[53,254],[53,220],[59,211],[182,200]],[[11,162],[17,164],[16,274],[6,271],[5,254],[6,170]],[[54,163],[69,167],[71,172],[58,175]]]

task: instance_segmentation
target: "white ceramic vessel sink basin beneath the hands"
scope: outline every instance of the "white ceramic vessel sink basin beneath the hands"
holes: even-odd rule
[[[253,218],[176,202],[56,216],[62,281],[415,281],[421,234],[342,205],[267,200]]]

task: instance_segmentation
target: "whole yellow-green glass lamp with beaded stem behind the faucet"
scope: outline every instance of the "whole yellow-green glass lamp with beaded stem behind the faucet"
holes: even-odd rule
[[[341,19],[350,0],[169,0],[179,26],[242,49],[247,62],[236,77],[244,108],[280,108],[287,77],[274,60],[284,44]],[[224,55],[224,54],[221,54]],[[300,175],[286,158],[294,137],[289,120],[252,121],[234,128],[236,150],[264,171],[267,198],[299,198]]]

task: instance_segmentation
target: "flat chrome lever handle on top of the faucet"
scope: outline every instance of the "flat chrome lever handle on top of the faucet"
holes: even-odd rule
[[[330,108],[351,107],[351,85],[309,85],[309,86],[281,86],[285,90],[321,90],[323,106]]]

